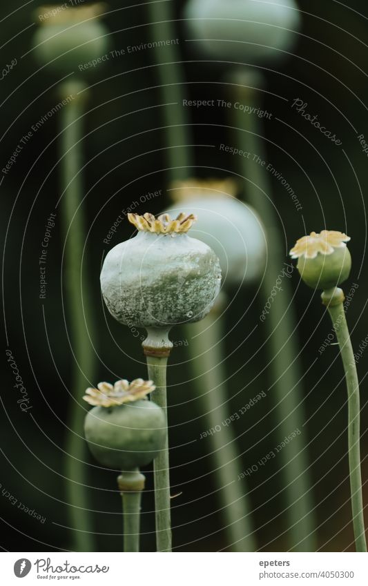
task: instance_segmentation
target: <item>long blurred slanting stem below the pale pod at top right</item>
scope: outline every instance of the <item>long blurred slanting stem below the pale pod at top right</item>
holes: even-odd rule
[[[262,86],[262,76],[253,72],[235,71],[231,76],[233,101],[249,106],[260,106],[260,92],[253,88]],[[258,155],[266,161],[262,141],[262,125],[255,115],[244,115],[241,110],[231,109],[235,141],[242,150],[251,153],[249,158],[238,157],[240,173],[246,178],[246,193],[249,202],[258,211],[266,228],[268,264],[262,282],[262,304],[265,305],[273,291],[280,272],[284,268],[285,250],[278,217],[271,201],[271,186],[264,166],[253,160]],[[301,373],[296,360],[296,320],[292,311],[292,294],[289,279],[282,279],[282,293],[274,302],[264,322],[271,348],[271,374],[273,379],[275,409],[278,417],[280,440],[289,433],[302,430],[305,420],[303,393],[300,385]],[[306,442],[301,433],[280,454],[283,458],[284,487],[289,516],[291,547],[294,551],[315,551],[315,527],[311,485],[309,482]]]

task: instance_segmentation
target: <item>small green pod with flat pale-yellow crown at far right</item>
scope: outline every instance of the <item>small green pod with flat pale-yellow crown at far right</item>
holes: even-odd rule
[[[331,230],[300,238],[290,255],[298,258],[302,280],[313,289],[331,289],[346,281],[351,271],[349,240],[346,234]]]

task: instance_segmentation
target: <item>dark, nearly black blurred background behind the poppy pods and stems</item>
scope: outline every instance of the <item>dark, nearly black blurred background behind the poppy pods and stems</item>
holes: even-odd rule
[[[1,240],[3,244],[3,380],[1,390],[1,547],[10,551],[72,549],[68,529],[68,502],[63,478],[66,413],[70,402],[71,373],[75,364],[70,339],[70,315],[63,294],[61,273],[65,235],[57,206],[61,195],[59,174],[60,113],[46,117],[58,104],[57,84],[64,75],[52,67],[40,68],[34,55],[37,28],[35,11],[41,3],[12,2],[1,7],[1,66],[6,70],[0,82],[1,168],[4,168],[22,137],[31,133],[17,154],[16,162],[1,173]],[[219,59],[204,57],[185,28],[185,2],[172,2],[175,12],[176,49],[184,70],[182,91],[188,100],[229,99],[224,76],[229,66]],[[284,186],[271,180],[278,225],[287,253],[298,237],[312,230],[346,231],[354,260],[351,279],[358,284],[349,305],[347,320],[354,348],[368,335],[365,202],[368,182],[367,154],[358,136],[368,140],[367,113],[367,5],[353,0],[349,6],[335,0],[323,3],[298,0],[302,26],[296,46],[282,62],[264,63],[259,70],[265,79],[260,106],[272,114],[262,119],[267,162],[287,179],[298,195],[298,213]],[[11,12],[10,12],[11,10]],[[72,8],[70,8],[72,10]],[[108,250],[133,235],[133,226],[124,219],[104,242],[111,226],[133,202],[137,213],[157,214],[170,204],[164,106],[159,92],[154,51],[146,48],[128,52],[128,46],[149,43],[157,38],[146,3],[128,6],[111,0],[105,9],[110,48],[115,55],[89,68],[84,81],[89,86],[83,118],[82,212],[88,234],[85,242],[88,295],[92,300],[97,328],[90,344],[95,351],[97,372],[86,385],[118,378],[131,380],[146,376],[142,355],[143,332],[132,333],[107,314],[101,300],[99,273]],[[161,59],[165,62],[166,47]],[[238,60],[240,61],[240,60]],[[244,53],[244,64],[246,54]],[[164,79],[165,73],[159,74]],[[307,103],[306,113],[318,119],[342,141],[336,146],[298,114],[295,99]],[[263,100],[263,104],[262,104]],[[170,106],[166,106],[170,107]],[[238,161],[219,145],[234,144],[229,117],[222,107],[188,107],[194,166],[190,176],[222,179],[238,173]],[[215,148],[214,148],[215,147]],[[148,193],[161,191],[157,197]],[[142,199],[140,199],[142,197]],[[247,194],[244,193],[247,200]],[[140,202],[144,203],[140,203]],[[39,298],[39,257],[50,213],[56,213],[47,255],[46,298]],[[123,213],[124,214],[124,213]],[[318,548],[322,551],[352,549],[349,478],[346,438],[346,389],[338,347],[330,345],[319,353],[331,333],[331,322],[322,310],[318,293],[299,286],[292,275],[293,304],[298,330],[293,334],[296,353],[302,364],[304,392],[303,436],[308,444],[310,481],[317,516]],[[271,385],[259,315],[262,302],[258,286],[235,291],[226,311],[231,335],[226,336],[226,373],[230,377],[229,413],[235,413],[257,393],[259,401],[246,416],[235,420],[244,471],[278,444],[275,435]],[[247,334],[254,329],[250,338]],[[224,523],[219,510],[209,444],[200,440],[207,429],[188,371],[188,330],[174,329],[177,342],[168,371],[171,480],[175,551],[217,551],[227,547]],[[245,340],[245,341],[244,341]],[[180,344],[182,341],[182,344]],[[334,340],[333,340],[334,341]],[[264,345],[263,345],[264,344]],[[18,389],[10,369],[10,349],[32,409],[22,412]],[[248,358],[251,357],[251,360]],[[362,398],[362,476],[368,502],[368,364],[363,352],[358,362]],[[333,367],[331,363],[333,362]],[[246,366],[243,366],[246,363]],[[331,367],[331,368],[330,368]],[[246,387],[246,389],[244,389]],[[241,389],[244,389],[241,391]],[[286,392],[289,389],[286,389]],[[240,392],[241,391],[241,392]],[[80,389],[80,396],[84,388]],[[87,407],[87,406],[86,406]],[[81,404],[80,409],[86,410]],[[273,431],[272,431],[273,430]],[[81,430],[82,431],[82,430]],[[270,433],[271,432],[271,433]],[[120,551],[122,514],[116,489],[116,473],[101,471],[88,456],[88,497],[93,529],[99,551]],[[144,471],[147,489],[142,511],[142,550],[155,549],[153,533],[153,480],[151,469]],[[284,491],[280,462],[274,458],[247,478],[253,507],[252,521],[258,547],[268,551],[289,549],[284,515]],[[239,481],[241,482],[241,480]],[[8,496],[8,493],[10,496]],[[13,497],[13,498],[11,498]],[[17,502],[14,502],[14,500]],[[25,512],[19,503],[29,511]],[[43,520],[44,519],[44,520]]]

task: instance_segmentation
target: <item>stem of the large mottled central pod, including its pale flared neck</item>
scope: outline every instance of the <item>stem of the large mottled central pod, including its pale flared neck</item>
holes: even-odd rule
[[[168,456],[166,370],[168,355],[173,344],[168,340],[168,331],[152,329],[148,330],[148,336],[142,346],[146,354],[148,378],[153,380],[156,387],[155,391],[151,393],[151,399],[164,411],[166,425],[164,447],[155,460],[153,460],[157,551],[171,551],[171,494]]]

